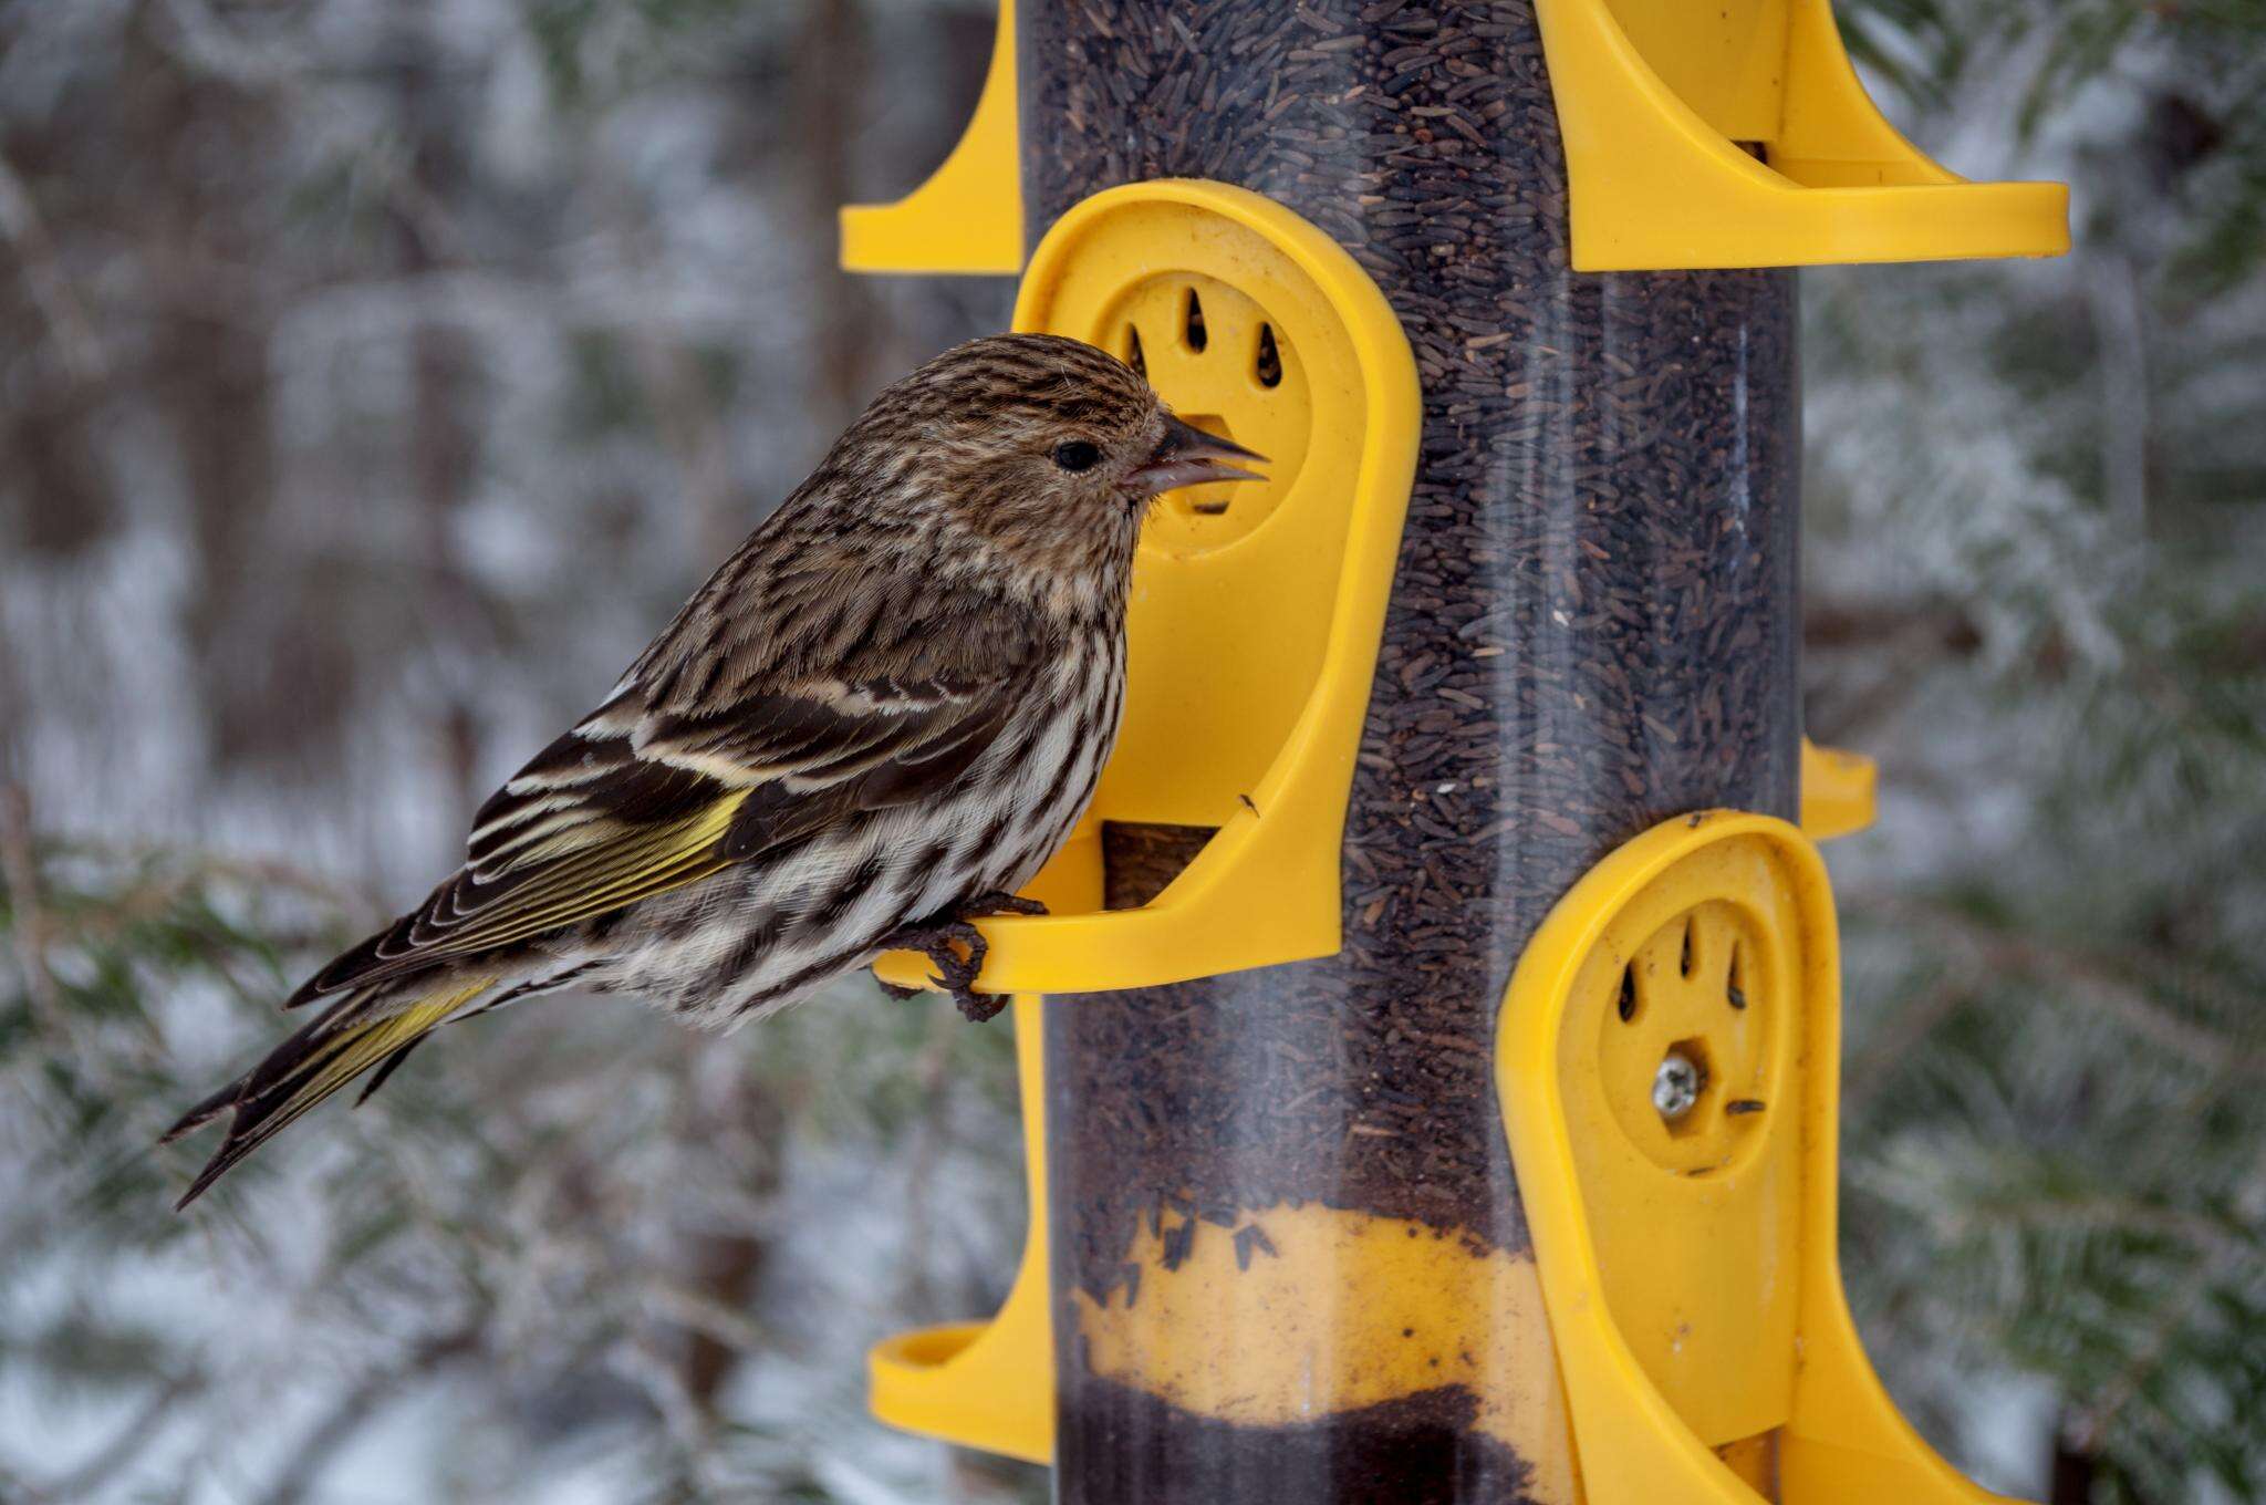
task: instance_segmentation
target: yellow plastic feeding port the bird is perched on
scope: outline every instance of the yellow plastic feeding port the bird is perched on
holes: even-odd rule
[[[1269,456],[1269,478],[1167,494],[1149,515],[1124,730],[1040,882],[1099,893],[1106,820],[1217,834],[1142,909],[983,920],[977,988],[1151,988],[1332,954],[1346,791],[1416,471],[1421,397],[1400,322],[1335,240],[1280,204],[1162,179],[1054,224],[1015,329],[1140,365],[1181,417]],[[929,979],[911,952],[875,970]]]

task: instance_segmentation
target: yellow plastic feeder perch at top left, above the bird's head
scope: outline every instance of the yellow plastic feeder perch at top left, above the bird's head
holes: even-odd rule
[[[959,145],[895,204],[841,211],[847,272],[1020,272],[1022,165],[1015,154],[1015,0],[999,0],[993,61]]]

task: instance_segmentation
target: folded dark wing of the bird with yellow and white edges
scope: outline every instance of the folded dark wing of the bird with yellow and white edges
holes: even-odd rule
[[[1033,648],[1002,623],[931,626],[963,662],[852,648],[818,675],[748,660],[702,700],[632,671],[480,807],[449,882],[290,1006],[528,941],[943,791],[1026,694]],[[986,644],[988,664],[965,662]]]

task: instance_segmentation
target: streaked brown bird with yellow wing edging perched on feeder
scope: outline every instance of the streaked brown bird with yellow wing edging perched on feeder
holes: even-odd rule
[[[1015,891],[1115,746],[1142,517],[1253,462],[1058,335],[970,340],[886,388],[480,805],[465,864],[165,1131],[231,1115],[177,1208],[442,1024],[569,986],[723,1031],[906,947],[968,1018],[997,1013],[974,920],[1042,913]]]

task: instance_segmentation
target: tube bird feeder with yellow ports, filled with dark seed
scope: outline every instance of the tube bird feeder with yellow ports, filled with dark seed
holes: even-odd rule
[[[845,265],[1022,274],[1273,465],[1147,524],[1119,748],[983,922],[1022,1269],[875,1410],[1092,1505],[1983,1498],[1833,1253],[1790,267],[2062,249],[1826,0],[1002,5]]]

